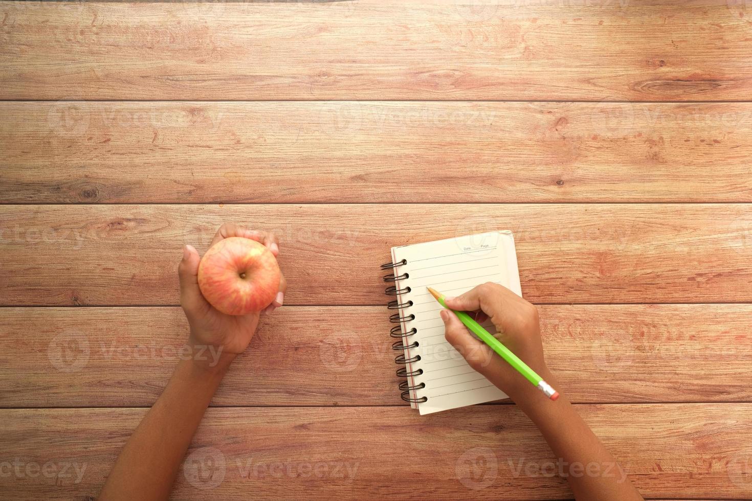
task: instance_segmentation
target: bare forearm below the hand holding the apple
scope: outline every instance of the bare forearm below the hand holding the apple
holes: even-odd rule
[[[231,358],[181,360],[117,458],[99,499],[167,499],[180,462]]]

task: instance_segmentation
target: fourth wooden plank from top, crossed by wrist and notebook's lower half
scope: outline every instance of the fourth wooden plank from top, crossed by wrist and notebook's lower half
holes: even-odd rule
[[[574,402],[752,400],[752,305],[539,309],[548,365]],[[213,405],[401,405],[389,327],[383,306],[283,307]],[[150,406],[187,331],[177,307],[2,308],[0,406]]]

